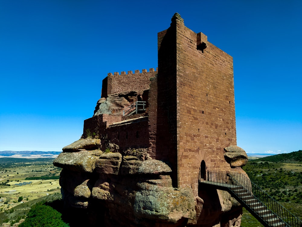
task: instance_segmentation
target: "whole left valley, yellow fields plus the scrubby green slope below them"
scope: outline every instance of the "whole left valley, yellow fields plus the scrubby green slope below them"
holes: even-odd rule
[[[41,199],[61,198],[58,181],[61,168],[53,166],[53,160],[0,158],[0,225],[4,222],[13,225],[24,219]],[[28,184],[16,185],[24,181]]]

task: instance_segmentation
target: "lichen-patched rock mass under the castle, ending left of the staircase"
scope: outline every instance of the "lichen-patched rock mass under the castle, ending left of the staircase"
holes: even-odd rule
[[[106,226],[184,226],[194,219],[192,189],[173,188],[167,164],[85,150],[94,149],[88,144],[95,143],[98,140],[89,138],[76,141],[54,161],[63,168],[59,182],[66,207],[89,210],[101,206]],[[89,225],[99,222],[92,219]]]

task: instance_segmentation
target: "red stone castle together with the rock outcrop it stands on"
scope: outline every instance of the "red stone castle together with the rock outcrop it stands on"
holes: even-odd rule
[[[130,207],[133,226],[239,226],[238,202],[226,192],[198,187],[198,177],[206,169],[242,172],[246,161],[236,147],[233,58],[175,13],[171,26],[158,33],[158,69],[109,73],[94,116],[84,121],[82,139],[64,147],[54,165],[63,168],[66,204],[88,209],[91,201],[101,201],[110,213],[108,226],[122,226],[112,222],[120,219],[120,209],[109,203]],[[129,174],[130,182],[120,183]],[[79,185],[70,183],[72,177]],[[133,186],[142,182],[156,189]],[[116,195],[119,184],[129,188],[126,194]],[[163,205],[165,190],[181,201]],[[129,206],[114,202],[117,197]],[[156,215],[153,206],[169,209]]]

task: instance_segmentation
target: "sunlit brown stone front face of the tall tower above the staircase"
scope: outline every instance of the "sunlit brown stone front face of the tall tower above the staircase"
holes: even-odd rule
[[[224,148],[236,145],[233,58],[176,19],[178,184],[196,185],[201,160],[229,170]],[[197,49],[197,38],[207,43]]]

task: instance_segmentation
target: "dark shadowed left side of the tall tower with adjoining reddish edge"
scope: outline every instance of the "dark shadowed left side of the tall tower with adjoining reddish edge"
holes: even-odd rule
[[[177,187],[175,29],[158,33],[158,76],[150,84],[149,135],[152,157],[169,164]]]

